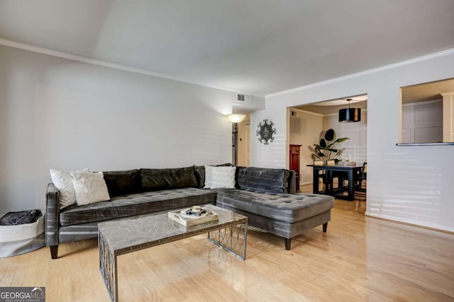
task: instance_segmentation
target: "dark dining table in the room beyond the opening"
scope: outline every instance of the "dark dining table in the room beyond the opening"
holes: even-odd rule
[[[362,164],[333,164],[333,165],[306,165],[314,169],[312,192],[327,194],[338,199],[353,201],[355,199],[355,185],[361,175]],[[324,190],[319,188],[319,177],[323,175]],[[338,187],[333,187],[333,179],[338,178]],[[348,180],[348,185],[343,185]],[[345,194],[347,192],[348,194]]]

